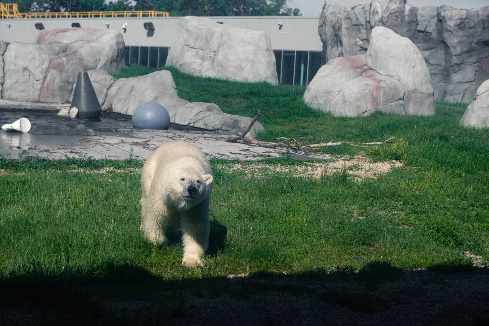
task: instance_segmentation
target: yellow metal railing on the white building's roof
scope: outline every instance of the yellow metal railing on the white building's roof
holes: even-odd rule
[[[67,12],[24,12],[20,13],[17,3],[0,2],[1,18],[115,18],[115,17],[168,17],[165,11],[67,11]]]

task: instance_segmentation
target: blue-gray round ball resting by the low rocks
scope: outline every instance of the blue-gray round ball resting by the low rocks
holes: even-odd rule
[[[133,127],[136,129],[170,128],[170,114],[161,104],[146,102],[134,110]]]

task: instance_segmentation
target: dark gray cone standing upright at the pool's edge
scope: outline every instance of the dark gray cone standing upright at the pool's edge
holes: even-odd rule
[[[86,71],[78,73],[73,101],[71,101],[71,108],[73,107],[78,109],[79,118],[98,118],[102,112],[97,94],[95,94]]]

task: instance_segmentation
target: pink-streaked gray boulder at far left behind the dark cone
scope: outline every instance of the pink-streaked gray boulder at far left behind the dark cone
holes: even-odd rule
[[[116,72],[124,65],[124,40],[113,30],[43,30],[34,44],[11,43],[3,59],[2,98],[62,103],[70,97],[79,72]]]

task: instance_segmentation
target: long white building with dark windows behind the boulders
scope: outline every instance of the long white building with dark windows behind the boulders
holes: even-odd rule
[[[319,18],[294,16],[209,17],[234,27],[264,31],[271,39],[280,83],[307,85],[321,66],[322,43],[317,32]],[[88,27],[115,29],[126,44],[126,63],[159,68],[172,46],[178,17],[3,19],[0,39],[32,43],[40,30]],[[147,30],[152,22],[154,30]],[[126,28],[123,28],[123,25]]]

